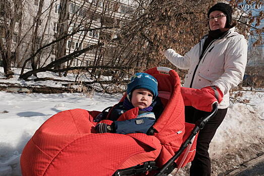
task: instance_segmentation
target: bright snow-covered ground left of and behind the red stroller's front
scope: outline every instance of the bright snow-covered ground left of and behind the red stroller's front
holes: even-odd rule
[[[21,175],[19,157],[27,141],[50,116],[81,108],[102,111],[121,97],[75,93],[17,94],[0,92],[0,175]]]

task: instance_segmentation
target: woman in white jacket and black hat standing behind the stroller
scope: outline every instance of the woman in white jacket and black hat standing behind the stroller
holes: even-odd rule
[[[209,34],[184,57],[173,49],[164,52],[167,59],[180,69],[189,69],[184,86],[202,89],[215,86],[223,93],[216,116],[200,131],[190,175],[208,176],[211,173],[209,144],[222,123],[229,106],[229,90],[243,78],[247,61],[247,42],[234,32],[232,8],[225,3],[214,5],[208,12]]]

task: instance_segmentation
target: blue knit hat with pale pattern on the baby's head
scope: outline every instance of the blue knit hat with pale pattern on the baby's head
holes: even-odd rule
[[[153,100],[158,96],[158,81],[148,73],[136,73],[127,84],[127,98],[131,100],[131,93],[135,89],[147,89],[153,93]]]

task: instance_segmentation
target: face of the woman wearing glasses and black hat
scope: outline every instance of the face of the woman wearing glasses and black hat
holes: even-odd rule
[[[212,31],[223,29],[226,26],[226,16],[221,11],[213,11],[209,15],[209,27]]]

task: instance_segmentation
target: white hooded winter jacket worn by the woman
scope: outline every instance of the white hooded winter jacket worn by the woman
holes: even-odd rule
[[[224,37],[209,44],[200,60],[206,38],[207,36],[200,40],[184,57],[173,49],[166,50],[164,55],[178,68],[189,69],[184,87],[219,87],[224,94],[219,109],[225,109],[229,106],[229,90],[243,79],[247,61],[247,41],[243,35],[231,28]]]

